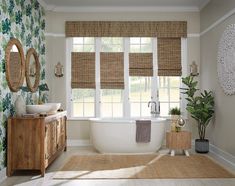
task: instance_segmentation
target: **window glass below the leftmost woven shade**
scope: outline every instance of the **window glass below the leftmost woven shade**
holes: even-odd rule
[[[72,89],[72,116],[95,117],[94,89]]]

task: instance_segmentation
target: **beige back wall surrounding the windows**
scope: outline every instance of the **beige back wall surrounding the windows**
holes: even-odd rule
[[[199,13],[55,13],[46,12],[46,33],[64,34],[66,20],[112,20],[112,21],[187,21],[188,33],[200,32]],[[66,39],[65,37],[46,37],[46,78],[50,88],[50,101],[62,102],[66,108],[65,77],[54,76],[54,66],[61,62],[66,68]],[[188,38],[188,62],[200,60],[199,37]],[[191,122],[189,122],[191,123]],[[191,125],[190,125],[191,128]],[[88,139],[89,123],[85,121],[68,122],[68,139]]]

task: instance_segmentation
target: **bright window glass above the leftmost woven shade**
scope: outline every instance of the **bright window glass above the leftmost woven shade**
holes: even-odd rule
[[[74,37],[73,52],[95,52],[95,38]]]

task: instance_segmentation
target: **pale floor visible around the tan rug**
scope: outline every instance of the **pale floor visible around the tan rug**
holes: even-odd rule
[[[161,150],[160,153],[166,153],[166,150]],[[234,186],[235,179],[112,179],[112,180],[55,180],[53,175],[59,170],[65,162],[74,154],[96,154],[97,152],[92,147],[69,147],[67,152],[64,152],[58,157],[51,166],[46,170],[45,177],[41,177],[39,173],[27,175],[27,173],[18,172],[12,177],[8,177],[1,186]],[[211,155],[211,157],[213,157]],[[223,164],[222,162],[219,162]],[[227,165],[226,168],[230,169]],[[234,171],[234,170],[232,170]]]

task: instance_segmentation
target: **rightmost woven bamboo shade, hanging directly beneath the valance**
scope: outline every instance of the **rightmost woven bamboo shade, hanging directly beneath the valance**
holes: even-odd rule
[[[181,76],[181,38],[158,38],[158,76]]]

